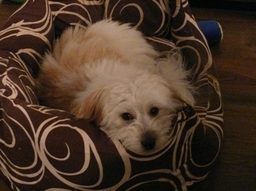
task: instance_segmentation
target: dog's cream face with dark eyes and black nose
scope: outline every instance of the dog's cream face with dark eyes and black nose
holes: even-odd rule
[[[181,102],[160,77],[121,80],[86,98],[78,118],[97,122],[113,140],[137,153],[156,152],[170,139],[172,118]]]

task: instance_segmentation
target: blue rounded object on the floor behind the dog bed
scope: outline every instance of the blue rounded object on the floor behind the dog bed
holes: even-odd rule
[[[222,26],[216,20],[199,21],[197,22],[197,25],[203,32],[204,36],[206,36],[209,46],[218,44],[222,41]]]

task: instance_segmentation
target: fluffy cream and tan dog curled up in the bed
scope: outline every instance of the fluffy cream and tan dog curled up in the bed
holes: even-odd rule
[[[113,141],[143,154],[171,139],[172,119],[194,105],[182,58],[161,54],[127,23],[67,28],[42,61],[42,104],[93,121]]]

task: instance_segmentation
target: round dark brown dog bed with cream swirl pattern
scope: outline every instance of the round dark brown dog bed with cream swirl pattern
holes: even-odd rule
[[[93,123],[38,104],[34,78],[56,36],[105,18],[132,23],[160,52],[179,47],[193,71],[196,106],[184,105],[173,139],[153,155],[135,155]],[[218,155],[219,83],[187,0],[28,0],[0,31],[0,74],[0,175],[13,190],[187,190]]]

